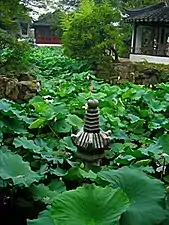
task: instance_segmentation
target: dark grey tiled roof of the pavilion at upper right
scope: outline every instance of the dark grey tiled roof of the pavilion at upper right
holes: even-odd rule
[[[161,2],[142,9],[126,10],[125,21],[134,22],[163,22],[169,23],[169,5]]]

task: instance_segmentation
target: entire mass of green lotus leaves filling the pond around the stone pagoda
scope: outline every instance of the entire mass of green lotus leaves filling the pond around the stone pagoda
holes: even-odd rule
[[[56,48],[34,48],[28,61],[42,81],[39,95],[27,103],[0,100],[0,186],[47,207],[28,224],[167,221],[169,84],[110,85]],[[101,128],[112,131],[106,158],[92,170],[77,160],[71,140],[90,98],[99,100]]]

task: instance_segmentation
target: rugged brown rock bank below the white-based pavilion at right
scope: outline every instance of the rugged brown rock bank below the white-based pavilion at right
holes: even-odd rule
[[[109,80],[109,83],[117,84],[124,82],[133,82],[135,84],[157,84],[166,82],[168,78],[161,76],[161,70],[149,67],[140,63],[111,63],[106,65],[101,62],[97,67],[97,76]],[[120,77],[120,79],[119,79]]]

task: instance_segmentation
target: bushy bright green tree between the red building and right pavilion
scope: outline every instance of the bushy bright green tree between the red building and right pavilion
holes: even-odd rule
[[[83,1],[77,11],[62,21],[65,53],[72,58],[98,62],[113,51],[117,59],[115,46],[123,38],[118,28],[120,19],[120,12],[108,2]]]

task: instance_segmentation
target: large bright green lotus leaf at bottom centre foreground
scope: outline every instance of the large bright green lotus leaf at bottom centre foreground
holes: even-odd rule
[[[50,210],[55,225],[115,225],[128,206],[121,189],[86,185],[58,195]]]

